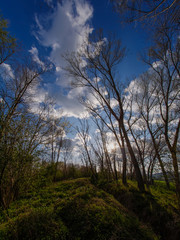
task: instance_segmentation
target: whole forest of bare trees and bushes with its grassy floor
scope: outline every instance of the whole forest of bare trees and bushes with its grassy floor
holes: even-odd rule
[[[180,238],[179,4],[110,4],[120,21],[151,32],[141,55],[148,70],[123,81],[126,46],[93,31],[62,56],[69,87],[84,93],[87,114],[74,123],[63,109],[54,114],[52,97],[35,102],[53,63],[37,64],[0,16],[2,240]]]

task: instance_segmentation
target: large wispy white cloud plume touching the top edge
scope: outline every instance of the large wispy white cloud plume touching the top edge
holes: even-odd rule
[[[66,52],[77,51],[86,36],[92,32],[88,24],[92,16],[93,8],[87,2],[67,0],[62,4],[58,3],[52,15],[44,16],[43,19],[36,17],[39,28],[36,37],[43,46],[51,48],[50,58],[56,67],[64,67],[62,55]],[[48,29],[43,27],[49,26],[50,22],[51,26]],[[61,82],[61,78],[59,81]],[[67,82],[69,84],[68,80]]]

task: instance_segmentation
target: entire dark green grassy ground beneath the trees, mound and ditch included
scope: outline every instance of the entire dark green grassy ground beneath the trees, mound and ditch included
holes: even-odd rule
[[[103,190],[104,189],[104,190]],[[109,192],[109,193],[107,193]],[[29,192],[1,211],[0,239],[179,239],[174,190],[80,178]],[[175,222],[176,221],[176,222]]]

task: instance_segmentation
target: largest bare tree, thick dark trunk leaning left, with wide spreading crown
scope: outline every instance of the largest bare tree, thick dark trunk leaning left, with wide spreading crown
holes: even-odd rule
[[[66,71],[74,78],[74,86],[88,88],[91,93],[96,94],[117,120],[134,165],[138,187],[144,191],[139,164],[124,124],[122,84],[117,77],[116,67],[123,59],[125,49],[115,38],[109,37],[106,40],[101,31],[87,41],[81,52],[65,56],[68,63]],[[116,110],[111,105],[111,98],[118,103]]]

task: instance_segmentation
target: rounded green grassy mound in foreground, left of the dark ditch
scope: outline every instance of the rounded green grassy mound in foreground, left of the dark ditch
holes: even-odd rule
[[[58,182],[1,210],[1,240],[156,240],[111,194],[88,179]]]

